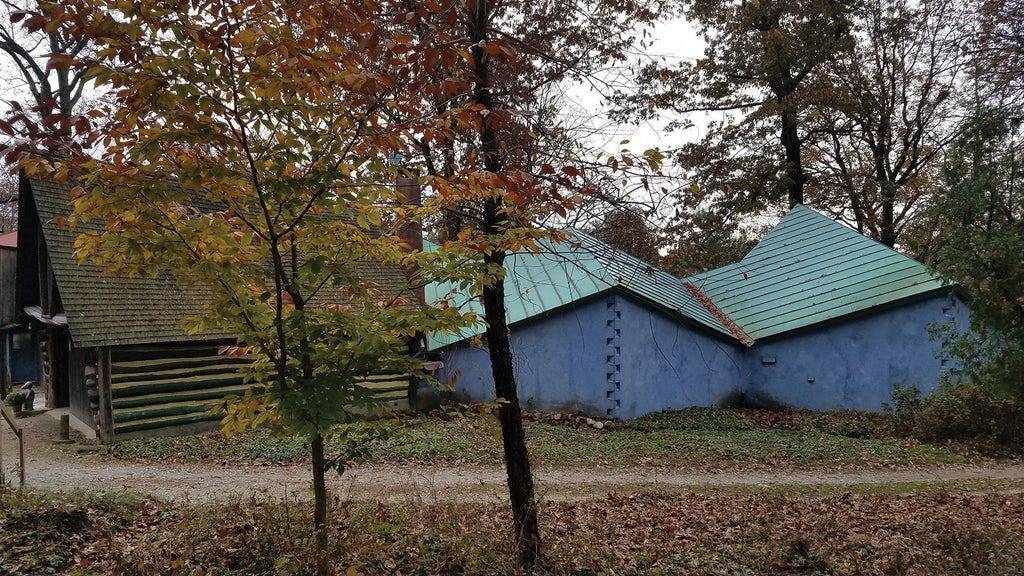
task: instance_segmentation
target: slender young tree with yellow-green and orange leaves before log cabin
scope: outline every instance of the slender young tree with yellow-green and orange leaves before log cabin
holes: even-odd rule
[[[383,26],[393,24],[391,9],[43,3],[26,18],[32,30],[97,50],[52,66],[94,79],[111,101],[42,126],[30,113],[2,126],[33,136],[8,147],[8,160],[77,182],[68,225],[79,233],[80,258],[106,274],[169,273],[208,291],[208,313],[183,327],[226,330],[238,340],[229,352],[255,355],[253,385],[227,404],[224,429],[267,423],[308,442],[317,574],[330,572],[325,474],[346,463],[328,441],[351,440],[343,424],[374,406],[360,378],[418,372],[404,341],[464,323],[454,310],[413,301],[398,268],[417,264],[416,282],[426,282],[433,264],[444,266],[443,252],[410,252],[398,240],[394,227],[422,214],[401,205],[389,162],[435,129],[410,94],[443,88],[425,73],[428,47],[408,27]],[[449,67],[466,54],[429,49]]]

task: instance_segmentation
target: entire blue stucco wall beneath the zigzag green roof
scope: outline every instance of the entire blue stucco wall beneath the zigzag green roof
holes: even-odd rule
[[[930,392],[953,368],[930,327],[968,326],[967,305],[937,295],[846,322],[762,340],[751,348],[681,324],[621,294],[606,294],[512,329],[519,399],[526,409],[635,418],[667,409],[752,404],[879,411],[894,384]],[[441,381],[460,398],[494,399],[487,352],[443,354]]]

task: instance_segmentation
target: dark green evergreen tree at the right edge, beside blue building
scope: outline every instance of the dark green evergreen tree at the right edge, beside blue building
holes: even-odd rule
[[[971,327],[953,353],[962,376],[1024,398],[1024,155],[1019,118],[984,110],[943,167],[946,192],[930,210],[941,247],[935,265],[970,295]]]

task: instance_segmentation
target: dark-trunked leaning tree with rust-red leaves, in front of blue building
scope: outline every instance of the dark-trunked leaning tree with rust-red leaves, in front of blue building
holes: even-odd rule
[[[634,26],[652,17],[651,7],[640,4],[468,0],[445,17],[420,14],[416,20],[422,39],[451,34],[468,40],[465,63],[434,67],[434,74],[458,90],[429,101],[449,122],[467,118],[453,115],[460,107],[472,117],[442,138],[425,137],[416,160],[431,181],[440,182],[433,188],[445,215],[442,246],[482,264],[474,289],[483,303],[514,537],[526,570],[539,561],[541,542],[503,302],[503,263],[508,253],[540,250],[542,238],[563,238],[542,222],[565,218],[586,188],[552,114],[550,87],[623,57]],[[446,186],[460,180],[472,181],[473,194],[450,194]]]

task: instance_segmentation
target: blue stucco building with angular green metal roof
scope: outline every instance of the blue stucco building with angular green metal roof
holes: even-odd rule
[[[895,384],[931,389],[952,368],[935,330],[968,325],[961,297],[924,264],[803,206],[740,261],[689,278],[582,233],[506,266],[527,409],[880,410]],[[469,401],[494,399],[480,331],[431,339],[438,378]]]

